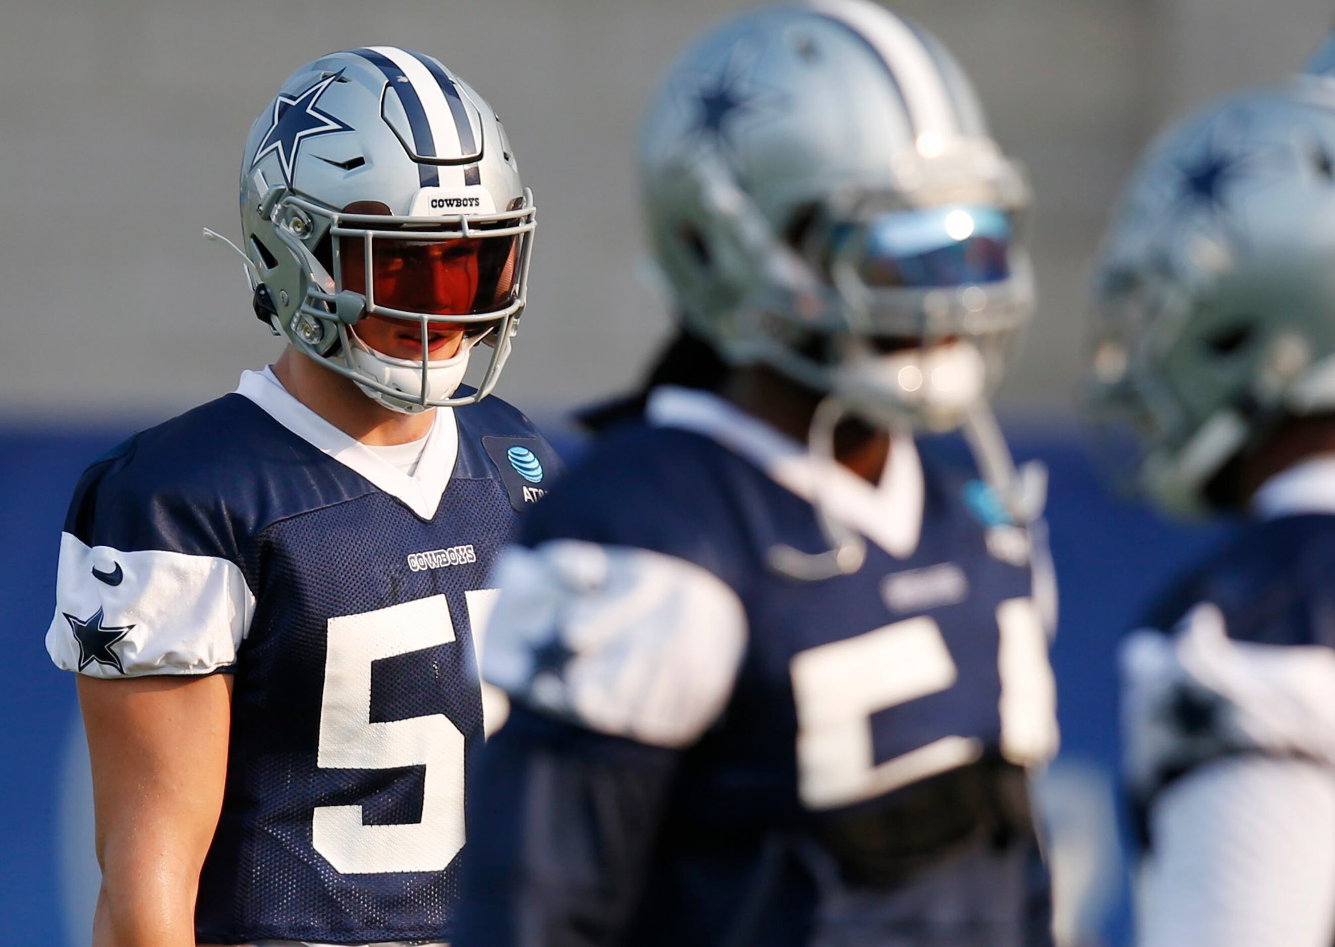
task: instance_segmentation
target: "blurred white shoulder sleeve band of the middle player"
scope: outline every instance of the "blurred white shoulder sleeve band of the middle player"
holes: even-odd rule
[[[726,706],[746,616],[708,570],[553,540],[507,550],[493,584],[483,676],[521,703],[661,747],[696,742]]]

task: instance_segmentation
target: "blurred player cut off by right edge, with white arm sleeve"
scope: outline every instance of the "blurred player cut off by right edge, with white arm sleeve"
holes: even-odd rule
[[[1123,647],[1141,947],[1335,943],[1332,168],[1330,79],[1215,103],[1143,156],[1095,271],[1127,472],[1240,519]]]

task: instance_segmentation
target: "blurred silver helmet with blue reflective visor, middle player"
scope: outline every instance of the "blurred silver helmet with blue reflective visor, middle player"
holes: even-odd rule
[[[744,13],[676,63],[639,171],[688,327],[878,424],[983,411],[1033,311],[1029,191],[963,69],[866,0]]]

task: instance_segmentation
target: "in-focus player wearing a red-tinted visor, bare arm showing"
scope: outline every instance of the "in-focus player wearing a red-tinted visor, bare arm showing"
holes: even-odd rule
[[[533,196],[477,92],[375,47],[287,79],[240,211],[287,349],[95,461],[61,536],[47,648],[80,675],[93,943],[443,943],[495,707],[487,574],[555,467],[486,397]]]

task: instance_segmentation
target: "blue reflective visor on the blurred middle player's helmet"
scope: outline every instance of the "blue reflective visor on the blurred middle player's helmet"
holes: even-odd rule
[[[861,231],[854,267],[870,287],[961,287],[1011,276],[1011,220],[992,207],[896,211]]]

